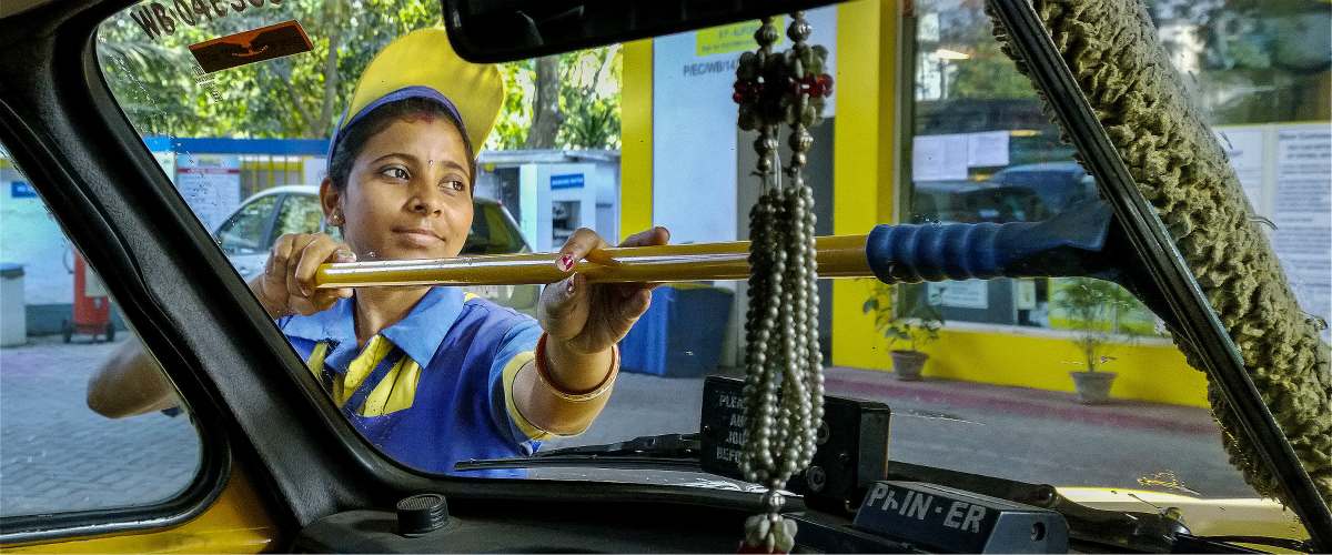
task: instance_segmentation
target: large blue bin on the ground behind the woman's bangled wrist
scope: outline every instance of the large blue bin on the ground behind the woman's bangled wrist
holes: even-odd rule
[[[621,369],[669,378],[711,374],[722,358],[734,295],[702,283],[657,287],[651,306],[619,342]]]

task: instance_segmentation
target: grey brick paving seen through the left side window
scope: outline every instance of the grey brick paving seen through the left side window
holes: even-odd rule
[[[198,468],[189,418],[88,410],[88,375],[112,345],[83,341],[0,350],[0,515],[156,502]]]

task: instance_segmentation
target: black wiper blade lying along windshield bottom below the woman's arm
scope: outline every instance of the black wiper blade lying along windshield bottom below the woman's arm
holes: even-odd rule
[[[538,451],[531,457],[458,461],[453,470],[594,467],[701,472],[699,434],[645,435],[623,442]]]

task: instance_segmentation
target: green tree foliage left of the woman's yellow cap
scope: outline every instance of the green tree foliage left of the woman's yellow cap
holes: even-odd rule
[[[190,44],[292,19],[312,52],[208,75],[221,101],[196,83]],[[438,13],[416,0],[357,0],[354,7],[352,0],[288,0],[177,24],[173,35],[149,39],[125,11],[103,23],[97,52],[112,93],[141,134],[324,138],[374,53],[438,23]]]

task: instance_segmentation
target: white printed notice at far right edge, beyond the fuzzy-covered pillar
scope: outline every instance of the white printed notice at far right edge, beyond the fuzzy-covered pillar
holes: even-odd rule
[[[1332,318],[1332,128],[1279,126],[1276,153],[1272,248],[1300,309],[1327,321]]]

